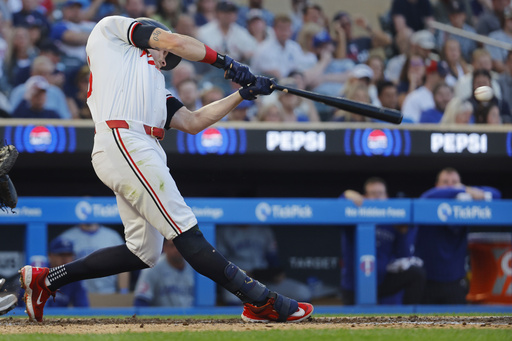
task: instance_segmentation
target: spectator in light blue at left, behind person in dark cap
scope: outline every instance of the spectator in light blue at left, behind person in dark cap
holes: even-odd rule
[[[71,113],[66,102],[66,96],[62,89],[52,84],[54,72],[55,65],[52,61],[46,56],[39,56],[35,58],[32,63],[30,74],[32,76],[43,76],[46,78],[48,83],[50,83],[50,86],[46,89],[46,102],[44,104],[44,108],[56,111],[60,118],[68,119],[71,118]],[[10,101],[13,108],[18,106],[18,104],[23,100],[25,89],[26,83],[20,84],[12,90]]]

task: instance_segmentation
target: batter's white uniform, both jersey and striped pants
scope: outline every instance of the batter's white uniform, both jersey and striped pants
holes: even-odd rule
[[[96,128],[94,170],[116,195],[128,249],[152,267],[164,237],[175,238],[197,220],[169,172],[165,151],[143,128],[164,127],[168,92],[153,57],[133,45],[136,25],[111,16],[91,32],[87,104]],[[125,127],[110,128],[108,120],[125,121]]]

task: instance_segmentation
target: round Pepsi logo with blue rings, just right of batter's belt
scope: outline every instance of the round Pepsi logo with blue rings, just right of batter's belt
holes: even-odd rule
[[[176,143],[180,154],[245,154],[247,136],[244,129],[210,127],[197,135],[178,131]]]

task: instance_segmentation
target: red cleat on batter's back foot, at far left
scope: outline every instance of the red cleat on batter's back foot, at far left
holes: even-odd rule
[[[55,299],[56,291],[50,291],[46,286],[45,279],[48,276],[48,268],[36,268],[26,265],[19,271],[21,287],[25,289],[23,300],[28,317],[38,322],[43,321],[43,309],[50,296]]]

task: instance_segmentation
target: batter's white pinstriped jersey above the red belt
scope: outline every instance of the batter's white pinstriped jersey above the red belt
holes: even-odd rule
[[[87,104],[96,123],[123,119],[163,128],[169,92],[153,57],[133,46],[136,25],[135,19],[110,16],[92,30],[86,46],[91,69]]]

